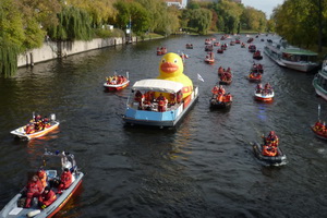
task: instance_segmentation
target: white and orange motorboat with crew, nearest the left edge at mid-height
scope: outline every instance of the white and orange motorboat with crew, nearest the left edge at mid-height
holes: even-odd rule
[[[33,120],[28,124],[13,130],[10,133],[23,140],[32,140],[46,135],[58,126],[59,121],[56,120],[55,113],[50,114],[50,119],[47,117],[37,119],[37,117],[33,116]]]

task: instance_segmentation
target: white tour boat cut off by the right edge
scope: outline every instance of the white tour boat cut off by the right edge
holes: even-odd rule
[[[324,61],[322,70],[315,75],[312,84],[316,94],[327,100],[327,60]]]

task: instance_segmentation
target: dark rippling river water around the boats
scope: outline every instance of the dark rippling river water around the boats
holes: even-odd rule
[[[327,118],[327,104],[315,96],[314,72],[282,69],[264,55],[263,83],[269,82],[276,96],[271,104],[257,102],[255,84],[245,78],[252,53],[230,46],[208,65],[205,38],[110,47],[0,78],[0,208],[41,165],[47,148],[73,153],[85,173],[83,186],[56,217],[326,217],[326,142],[310,125],[318,118],[318,104],[320,118]],[[276,37],[255,38],[263,50],[261,38]],[[187,43],[194,49],[186,50]],[[177,129],[125,126],[121,114],[131,86],[108,93],[105,77],[114,70],[129,70],[131,85],[156,77],[159,46],[190,56],[184,73],[199,86],[199,99]],[[219,65],[233,73],[226,87],[234,100],[229,111],[209,110]],[[14,140],[10,131],[25,124],[33,111],[56,113],[59,130],[29,142]],[[280,137],[286,166],[267,167],[253,155],[250,142],[270,130]]]

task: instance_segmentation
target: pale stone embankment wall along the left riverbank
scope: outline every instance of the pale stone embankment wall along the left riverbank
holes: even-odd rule
[[[133,41],[137,41],[133,37]],[[89,41],[45,41],[41,48],[32,49],[19,56],[17,65],[27,66],[35,63],[68,57],[94,49],[125,44],[125,38],[96,38]]]

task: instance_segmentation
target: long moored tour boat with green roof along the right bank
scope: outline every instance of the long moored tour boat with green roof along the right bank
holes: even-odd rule
[[[286,43],[270,41],[264,52],[280,66],[308,72],[319,65],[317,53],[301,48],[286,46]]]

